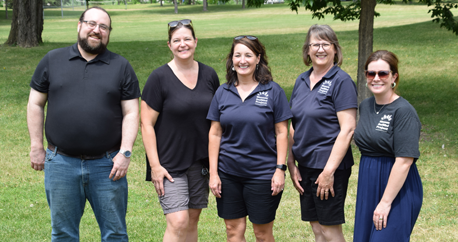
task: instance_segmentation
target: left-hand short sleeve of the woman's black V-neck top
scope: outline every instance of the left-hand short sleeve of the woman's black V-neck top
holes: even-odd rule
[[[161,78],[158,69],[154,70],[143,88],[142,100],[157,112],[162,112],[164,96],[162,92]]]

